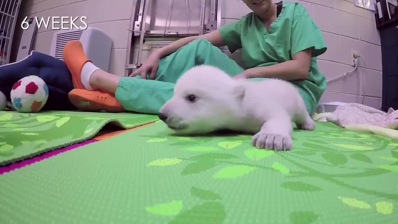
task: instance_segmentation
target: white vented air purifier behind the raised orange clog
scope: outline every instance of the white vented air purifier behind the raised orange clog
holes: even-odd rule
[[[83,45],[84,53],[92,63],[102,69],[109,71],[111,57],[112,39],[98,28],[87,29],[61,29],[54,33],[51,43],[50,55],[64,60],[62,52],[68,41],[78,40]]]

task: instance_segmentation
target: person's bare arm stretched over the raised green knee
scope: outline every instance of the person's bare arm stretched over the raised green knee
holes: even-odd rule
[[[216,47],[224,46],[224,41],[221,37],[220,31],[215,30],[213,32],[206,33],[203,35],[181,38],[177,41],[174,41],[173,43],[170,43],[169,45],[156,49],[153,53],[155,53],[159,58],[162,58],[176,52],[179,48],[183,47],[184,45],[187,45],[191,41],[202,38],[207,39],[210,43],[212,43]]]

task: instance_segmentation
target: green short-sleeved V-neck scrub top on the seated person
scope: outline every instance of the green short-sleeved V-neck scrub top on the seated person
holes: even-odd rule
[[[326,90],[326,78],[318,69],[316,57],[325,53],[327,48],[320,29],[302,4],[283,2],[281,13],[268,31],[253,12],[221,26],[219,31],[231,53],[242,49],[244,69],[289,61],[296,53],[312,47],[307,79],[291,83],[310,96],[312,106],[318,104]]]

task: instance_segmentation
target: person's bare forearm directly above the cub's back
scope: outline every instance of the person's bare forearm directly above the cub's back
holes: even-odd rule
[[[308,48],[293,55],[292,60],[278,63],[276,65],[247,69],[241,76],[244,78],[279,78],[288,81],[306,79],[310,70],[311,59],[312,48]]]

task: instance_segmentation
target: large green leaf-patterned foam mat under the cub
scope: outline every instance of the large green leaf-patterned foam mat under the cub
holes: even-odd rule
[[[316,125],[274,152],[156,122],[0,175],[0,223],[396,223],[398,142]]]

